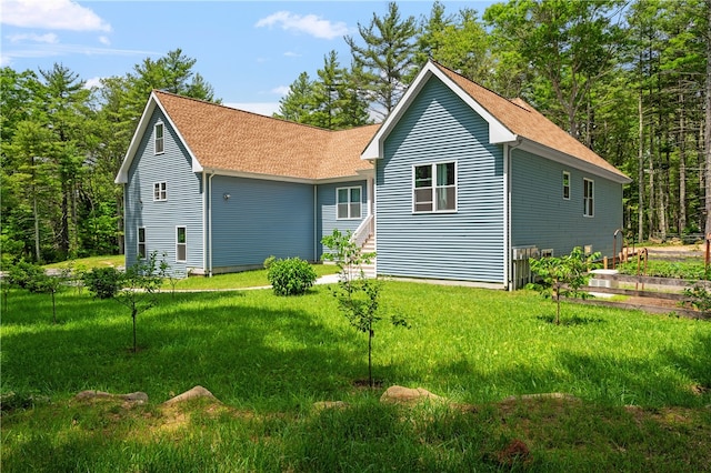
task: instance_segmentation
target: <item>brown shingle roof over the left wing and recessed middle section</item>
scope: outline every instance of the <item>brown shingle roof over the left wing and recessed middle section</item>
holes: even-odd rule
[[[153,91],[204,169],[318,180],[372,169],[360,153],[379,125],[330,131]]]

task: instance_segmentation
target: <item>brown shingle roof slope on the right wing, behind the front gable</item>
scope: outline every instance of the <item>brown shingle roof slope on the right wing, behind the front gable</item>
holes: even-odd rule
[[[628,179],[619,169],[563,131],[524,100],[504,99],[441,64],[432,63],[511,132]]]

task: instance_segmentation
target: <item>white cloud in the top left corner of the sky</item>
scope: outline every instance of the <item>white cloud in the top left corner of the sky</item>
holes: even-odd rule
[[[71,0],[2,0],[0,22],[48,30],[111,31],[111,24]]]

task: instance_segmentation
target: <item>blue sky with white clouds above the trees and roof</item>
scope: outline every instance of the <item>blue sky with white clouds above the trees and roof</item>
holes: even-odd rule
[[[401,16],[429,16],[433,1],[400,1]],[[491,1],[445,1],[447,12],[483,13]],[[20,72],[61,63],[89,84],[124,76],[150,57],[182,49],[232,107],[271,114],[289,85],[311,78],[343,36],[358,36],[387,1],[73,1],[0,0],[0,64]]]

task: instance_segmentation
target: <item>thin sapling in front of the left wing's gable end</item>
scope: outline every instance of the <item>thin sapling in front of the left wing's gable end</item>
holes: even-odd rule
[[[133,353],[138,351],[136,341],[136,322],[138,315],[151,309],[158,303],[158,293],[162,284],[158,253],[153,251],[139,260],[136,264],[126,269],[126,274],[121,279],[121,289],[116,293],[116,299],[120,304],[126,305],[131,311],[133,321]]]

